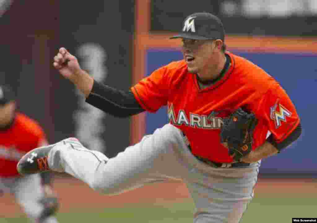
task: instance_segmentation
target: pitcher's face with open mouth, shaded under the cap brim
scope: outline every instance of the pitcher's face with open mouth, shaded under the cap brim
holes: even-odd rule
[[[182,39],[182,52],[190,73],[198,74],[202,79],[208,79],[209,71],[217,68],[218,54],[215,41]],[[206,73],[206,74],[204,74]],[[202,77],[201,77],[202,75]]]

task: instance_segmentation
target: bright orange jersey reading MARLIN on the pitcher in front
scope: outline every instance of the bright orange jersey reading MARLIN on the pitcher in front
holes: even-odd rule
[[[220,144],[222,119],[238,107],[258,119],[253,150],[271,133],[277,142],[299,124],[296,109],[279,83],[252,62],[227,52],[231,66],[214,85],[201,90],[185,61],[154,71],[131,90],[149,112],[168,105],[170,123],[188,137],[192,152],[214,162],[232,162]]]

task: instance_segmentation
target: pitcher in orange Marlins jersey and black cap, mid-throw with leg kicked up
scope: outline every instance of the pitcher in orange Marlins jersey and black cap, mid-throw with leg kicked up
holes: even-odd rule
[[[105,194],[182,179],[196,205],[194,222],[239,222],[261,159],[300,136],[300,118],[274,78],[226,51],[216,16],[192,14],[172,38],[181,39],[184,60],[157,69],[126,92],[95,81],[60,48],[54,67],[88,103],[117,117],[168,105],[169,123],[110,159],[75,138],[37,148],[20,160],[19,173],[66,172]],[[243,126],[249,116],[256,122],[248,129]]]

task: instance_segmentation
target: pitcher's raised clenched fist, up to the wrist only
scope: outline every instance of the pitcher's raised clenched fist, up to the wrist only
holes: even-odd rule
[[[76,57],[63,47],[59,49],[59,52],[54,57],[53,66],[63,77],[69,80],[73,80],[75,75],[81,70]]]

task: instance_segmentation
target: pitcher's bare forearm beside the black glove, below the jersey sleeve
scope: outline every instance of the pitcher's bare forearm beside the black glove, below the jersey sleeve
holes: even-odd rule
[[[243,157],[242,162],[257,162],[260,159],[267,158],[278,153],[278,150],[269,142],[265,141],[256,150],[251,151],[247,156]]]

